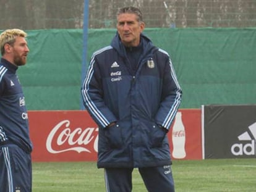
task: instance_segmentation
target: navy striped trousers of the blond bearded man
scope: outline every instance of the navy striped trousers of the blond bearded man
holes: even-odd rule
[[[0,146],[0,191],[32,191],[31,155],[15,144]]]

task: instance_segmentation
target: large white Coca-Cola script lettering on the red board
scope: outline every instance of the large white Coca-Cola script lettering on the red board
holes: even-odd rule
[[[66,151],[98,152],[98,128],[70,128],[70,121],[62,120],[49,133],[46,149],[53,154]]]

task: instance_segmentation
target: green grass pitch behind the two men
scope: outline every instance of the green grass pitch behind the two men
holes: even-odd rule
[[[174,161],[173,176],[176,192],[256,191],[256,159]],[[105,191],[103,169],[95,162],[33,163],[33,192],[85,191]],[[134,169],[132,192],[146,191]]]

